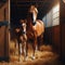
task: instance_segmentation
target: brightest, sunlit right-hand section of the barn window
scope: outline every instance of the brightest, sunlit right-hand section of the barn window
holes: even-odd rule
[[[60,25],[60,4],[52,9],[52,26]]]

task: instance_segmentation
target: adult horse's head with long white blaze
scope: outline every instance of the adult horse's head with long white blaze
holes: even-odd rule
[[[29,13],[30,13],[30,16],[31,16],[31,22],[32,22],[32,24],[35,24],[36,20],[37,20],[37,14],[38,14],[37,8],[35,5],[30,5]]]

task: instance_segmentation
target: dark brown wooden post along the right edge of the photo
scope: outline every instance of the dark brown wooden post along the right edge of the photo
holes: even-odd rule
[[[61,46],[62,46],[62,60],[65,61],[65,3],[61,0]]]

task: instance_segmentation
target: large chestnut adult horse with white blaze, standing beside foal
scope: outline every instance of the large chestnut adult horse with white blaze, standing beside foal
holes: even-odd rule
[[[44,32],[44,24],[42,21],[37,20],[37,14],[38,14],[37,8],[35,5],[31,5],[27,16],[27,38],[34,40],[32,43],[34,58],[35,58],[35,51],[37,51],[38,49],[37,38]]]

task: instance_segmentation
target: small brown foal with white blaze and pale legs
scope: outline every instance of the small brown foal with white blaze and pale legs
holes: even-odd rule
[[[17,42],[18,42],[18,58],[21,58],[21,55],[24,53],[24,61],[26,61],[27,57],[27,36],[26,36],[26,21],[21,20],[21,27],[16,28],[15,31],[17,32]]]

